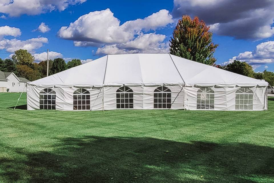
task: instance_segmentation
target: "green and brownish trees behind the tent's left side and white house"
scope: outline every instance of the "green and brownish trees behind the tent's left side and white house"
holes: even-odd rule
[[[0,58],[0,70],[3,72],[13,72],[18,77],[25,77],[34,81],[47,76],[47,61],[35,63],[35,57],[27,50],[19,49],[15,51],[11,59]],[[66,69],[81,65],[80,59],[72,59],[65,62],[63,58],[49,60],[49,75],[59,73]]]

